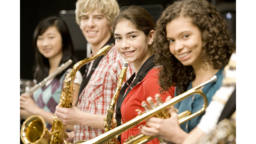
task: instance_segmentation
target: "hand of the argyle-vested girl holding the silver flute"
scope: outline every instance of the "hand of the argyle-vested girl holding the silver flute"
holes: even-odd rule
[[[37,114],[38,107],[36,106],[34,100],[28,94],[21,94],[20,96],[20,107],[27,110],[31,114]]]

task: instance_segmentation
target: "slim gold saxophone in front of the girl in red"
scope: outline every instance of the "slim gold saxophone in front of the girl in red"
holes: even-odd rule
[[[120,90],[122,88],[123,81],[125,81],[125,79],[126,79],[126,71],[127,71],[128,65],[129,65],[129,63],[125,62],[122,66],[120,75],[118,77],[118,83],[117,83],[117,86],[116,86],[116,91],[115,91],[115,93],[114,93],[114,95],[111,99],[111,102],[110,102],[110,105],[109,105],[109,108],[108,108],[108,111],[107,111],[108,114],[103,119],[104,120],[104,131],[105,131],[105,133],[114,129],[114,128],[116,128],[116,126],[117,126],[116,119],[114,118],[114,109],[115,109],[115,105],[116,105],[118,95],[119,95]],[[74,144],[80,144],[80,143],[83,143],[83,142],[86,142],[86,140],[80,140],[80,141],[75,142]],[[117,136],[116,137],[113,136],[112,139],[110,139],[109,141],[106,141],[104,144],[120,144],[120,142],[118,141]]]

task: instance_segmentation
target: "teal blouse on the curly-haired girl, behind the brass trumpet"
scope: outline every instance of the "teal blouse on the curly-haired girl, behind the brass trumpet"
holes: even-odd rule
[[[206,97],[208,98],[208,105],[211,102],[214,93],[220,88],[222,84],[222,79],[223,79],[222,70],[223,68],[220,69],[215,74],[217,76],[216,82],[208,83],[202,89],[202,91],[205,93]],[[191,88],[192,88],[192,81],[190,82],[187,90]],[[175,96],[177,96],[176,91],[174,93],[174,97]],[[179,109],[178,114],[185,110],[189,110],[191,111],[191,113],[195,113],[202,108],[203,103],[204,103],[204,99],[202,98],[202,96],[198,94],[194,94],[184,99],[183,101],[175,104],[174,106],[176,109]],[[194,129],[197,126],[197,124],[199,124],[203,115],[204,113],[180,125],[181,129],[189,133],[192,129]]]

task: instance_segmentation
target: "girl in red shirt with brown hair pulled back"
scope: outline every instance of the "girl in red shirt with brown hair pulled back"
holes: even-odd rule
[[[141,102],[148,97],[155,98],[155,94],[160,93],[158,84],[158,72],[160,67],[153,63],[154,53],[152,43],[154,41],[155,24],[152,16],[143,8],[140,7],[125,7],[121,9],[119,15],[111,22],[112,32],[115,36],[116,49],[125,61],[132,63],[135,69],[134,79],[131,88],[126,89],[124,95],[119,94],[117,102],[117,112],[121,112],[121,123],[126,123],[135,118],[138,114],[135,111],[140,109]],[[150,66],[149,66],[150,65]],[[148,71],[147,68],[151,67]],[[146,70],[145,70],[146,68]],[[144,72],[146,76],[143,78],[141,74]],[[134,76],[135,76],[134,75]],[[136,79],[137,78],[137,79]],[[164,101],[167,96],[174,95],[174,87],[164,91],[161,98]],[[154,100],[155,101],[155,100]],[[143,122],[140,125],[144,125]],[[120,125],[120,122],[118,123]],[[124,143],[131,135],[140,133],[137,125],[121,134],[121,143]],[[154,139],[150,144],[159,144],[158,139]]]

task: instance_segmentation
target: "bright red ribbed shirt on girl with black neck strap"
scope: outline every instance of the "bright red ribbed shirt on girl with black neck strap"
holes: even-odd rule
[[[160,94],[160,86],[158,84],[159,77],[157,73],[159,71],[159,67],[153,68],[148,72],[146,77],[138,83],[126,96],[121,106],[121,114],[122,114],[122,123],[126,123],[129,120],[135,118],[138,115],[138,112],[135,112],[136,109],[140,109],[144,111],[145,109],[141,107],[141,102],[146,101],[147,97],[152,97],[155,102],[155,94]],[[169,91],[165,94],[160,94],[162,101],[164,102],[167,96],[174,96],[175,87],[171,87]],[[145,125],[146,122],[136,125],[135,127],[125,131],[121,134],[121,143],[124,143],[126,139],[128,139],[131,135],[136,135],[140,133],[138,126]],[[153,139],[149,141],[147,144],[159,144],[158,139]]]

